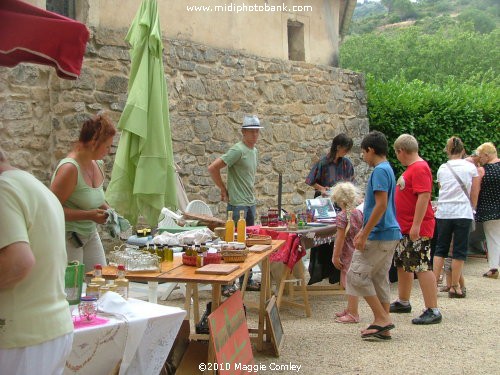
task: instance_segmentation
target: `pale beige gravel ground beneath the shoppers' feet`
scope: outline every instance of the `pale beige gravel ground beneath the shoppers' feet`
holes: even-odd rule
[[[415,280],[410,314],[393,314],[396,328],[393,339],[366,342],[360,330],[371,322],[366,302],[360,302],[359,324],[334,322],[334,313],[345,307],[344,296],[311,296],[312,316],[303,310],[282,307],[281,321],[285,333],[280,357],[270,349],[254,350],[255,363],[266,367],[257,373],[291,374],[277,366],[300,366],[296,373],[322,374],[500,374],[500,280],[487,279],[484,258],[469,258],[464,275],[465,299],[450,299],[439,293],[438,304],[443,314],[441,324],[416,326],[411,319],[420,315],[423,299]],[[391,286],[397,296],[397,284]],[[248,293],[256,300],[257,293]],[[210,298],[200,292],[200,305]],[[164,303],[181,306],[182,295],[174,291]],[[250,314],[249,325],[255,326]]]

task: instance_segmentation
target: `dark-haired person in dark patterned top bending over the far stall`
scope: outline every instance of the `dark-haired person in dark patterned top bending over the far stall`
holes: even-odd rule
[[[330,188],[339,181],[354,181],[354,167],[345,156],[352,149],[352,138],[341,133],[332,140],[330,152],[311,169],[306,184],[314,187],[314,197],[328,196]]]

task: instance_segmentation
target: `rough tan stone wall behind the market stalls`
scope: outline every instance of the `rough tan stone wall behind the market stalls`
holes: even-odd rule
[[[0,144],[13,164],[48,184],[86,116],[105,110],[118,122],[130,62],[126,31],[92,30],[76,81],[59,79],[43,66],[0,68]],[[302,208],[313,194],[304,184],[311,164],[340,132],[355,140],[351,159],[358,181],[364,181],[359,143],[368,118],[362,76],[188,41],[168,39],[164,46],[174,157],[189,199],[208,202],[215,213],[225,210],[207,166],[241,138],[247,113],[258,115],[265,127],[257,145],[261,211],[277,205],[279,173],[283,207]]]

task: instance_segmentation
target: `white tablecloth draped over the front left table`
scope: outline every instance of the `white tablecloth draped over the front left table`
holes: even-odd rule
[[[129,299],[125,314],[100,314],[106,324],[75,330],[64,374],[157,375],[186,312]],[[117,373],[117,372],[115,372]]]

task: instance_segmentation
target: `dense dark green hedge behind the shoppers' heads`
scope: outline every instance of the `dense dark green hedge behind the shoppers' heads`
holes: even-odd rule
[[[367,78],[370,130],[383,132],[392,146],[403,133],[419,142],[421,156],[435,175],[446,161],[443,149],[452,135],[462,138],[470,153],[484,142],[499,146],[500,85],[453,80],[434,85],[418,80],[387,82]],[[403,171],[391,147],[389,160],[397,175]]]

